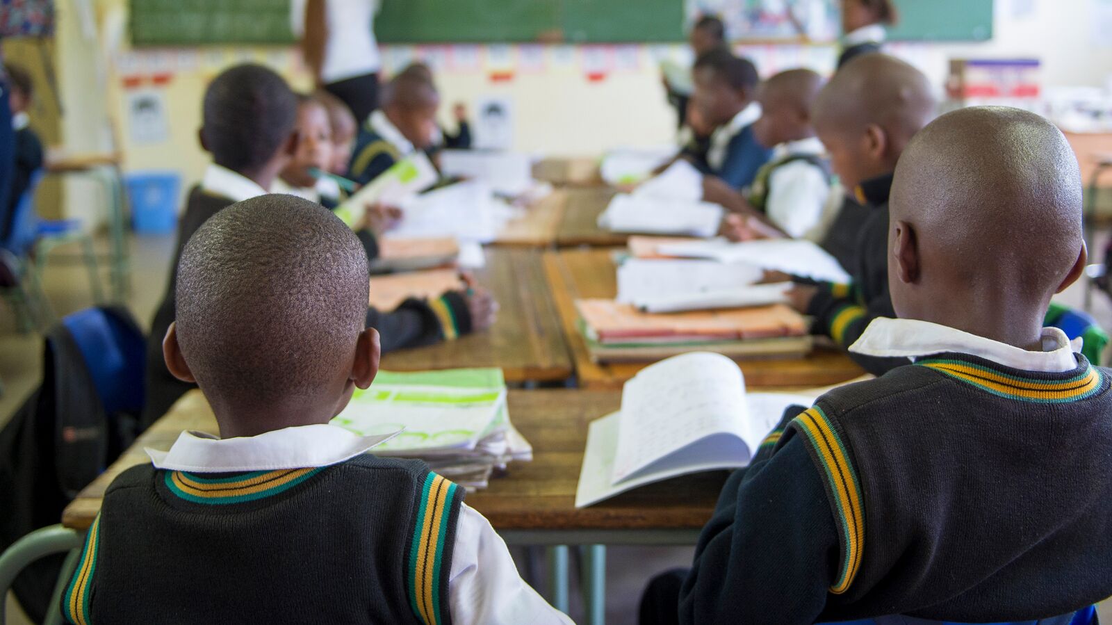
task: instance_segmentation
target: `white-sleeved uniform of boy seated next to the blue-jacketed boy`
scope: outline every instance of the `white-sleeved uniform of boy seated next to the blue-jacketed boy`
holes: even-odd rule
[[[749,187],[749,206],[764,212],[790,237],[810,232],[822,219],[831,183],[826,149],[817,137],[773,148]]]

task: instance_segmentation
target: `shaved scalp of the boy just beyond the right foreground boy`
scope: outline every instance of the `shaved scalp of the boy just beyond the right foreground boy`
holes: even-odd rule
[[[863,54],[846,63],[815,100],[815,126],[848,132],[876,125],[905,143],[934,115],[923,72],[895,57]]]

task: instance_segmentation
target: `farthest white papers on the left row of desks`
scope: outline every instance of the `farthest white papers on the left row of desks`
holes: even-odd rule
[[[485,182],[499,195],[540,199],[552,185],[533,179],[533,159],[526,155],[487,150],[444,150],[440,172],[448,177]]]

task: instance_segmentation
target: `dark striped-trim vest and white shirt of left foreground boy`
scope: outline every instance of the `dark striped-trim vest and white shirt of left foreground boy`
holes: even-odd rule
[[[569,624],[464,489],[321,424],[182,433],[108,487],[70,623]]]

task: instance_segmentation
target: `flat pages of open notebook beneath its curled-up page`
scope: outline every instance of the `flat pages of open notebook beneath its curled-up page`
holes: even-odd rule
[[[746,395],[749,419],[744,429],[744,438],[754,452],[761,446],[768,433],[780,423],[788,406],[810,406],[813,398],[778,393],[751,393]],[[587,429],[587,447],[583,455],[583,468],[579,472],[579,484],[575,490],[575,507],[582,508],[608,499],[619,493],[625,493],[645,484],[661,482],[669,477],[714,470],[736,468],[747,463],[737,463],[736,458],[724,458],[704,454],[702,448],[694,446],[691,454],[681,457],[675,454],[667,463],[651,470],[644,470],[634,477],[614,484],[610,476],[617,455],[620,414],[614,413],[595,419]],[[683,454],[683,453],[681,453]]]

